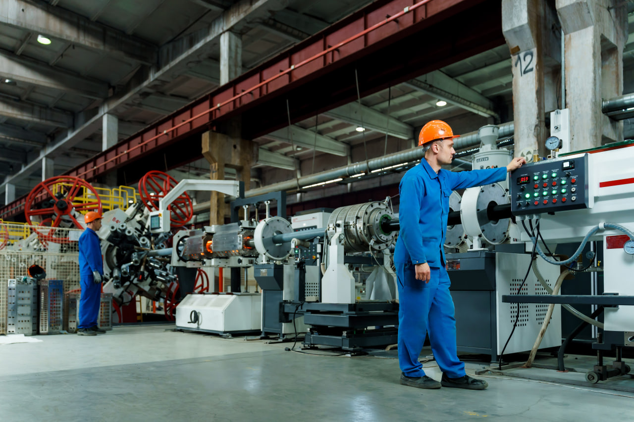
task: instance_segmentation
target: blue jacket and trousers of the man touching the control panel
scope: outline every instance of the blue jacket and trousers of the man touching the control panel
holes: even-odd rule
[[[501,182],[506,167],[438,174],[423,158],[408,170],[399,184],[399,231],[394,264],[399,290],[398,357],[406,376],[424,376],[418,355],[429,332],[434,358],[450,378],[465,375],[456,355],[456,320],[444,264],[449,197],[455,189]],[[429,283],[417,280],[415,264],[429,264]]]

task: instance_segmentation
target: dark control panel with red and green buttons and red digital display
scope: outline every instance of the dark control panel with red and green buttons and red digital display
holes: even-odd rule
[[[508,186],[513,215],[588,208],[588,154],[522,165]]]

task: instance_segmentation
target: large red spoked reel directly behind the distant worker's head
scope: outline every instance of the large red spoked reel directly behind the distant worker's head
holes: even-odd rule
[[[61,186],[56,186],[61,185]],[[56,193],[54,193],[57,191]],[[94,201],[78,202],[75,198],[94,197]],[[32,217],[42,219],[42,224],[48,227],[70,227],[84,229],[83,218],[79,222],[75,214],[86,214],[94,211],[101,214],[101,199],[97,191],[84,179],[75,176],[56,176],[39,182],[33,188],[24,206],[24,215],[27,222],[34,226]],[[55,229],[37,229],[34,231],[41,240],[65,243],[67,238],[55,236]]]

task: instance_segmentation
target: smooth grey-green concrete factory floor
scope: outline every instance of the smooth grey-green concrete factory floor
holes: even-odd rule
[[[484,391],[420,390],[398,384],[395,359],[303,355],[166,328],[0,346],[0,420],[632,420],[632,393],[505,376],[487,377]]]

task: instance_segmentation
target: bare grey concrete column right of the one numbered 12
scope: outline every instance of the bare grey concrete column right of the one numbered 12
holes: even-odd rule
[[[623,47],[628,38],[626,2],[557,0],[566,49],[566,104],[571,150],[623,140],[623,122],[601,112],[602,98],[623,94]]]

